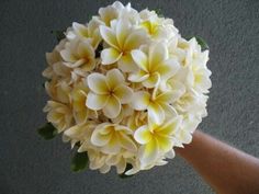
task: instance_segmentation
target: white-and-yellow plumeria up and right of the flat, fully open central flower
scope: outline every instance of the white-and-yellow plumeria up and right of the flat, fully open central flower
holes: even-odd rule
[[[139,71],[131,73],[128,79],[142,82],[146,88],[155,88],[159,81],[167,81],[179,69],[179,64],[168,57],[167,45],[162,42],[153,44],[148,54],[140,49],[132,50],[132,57]]]

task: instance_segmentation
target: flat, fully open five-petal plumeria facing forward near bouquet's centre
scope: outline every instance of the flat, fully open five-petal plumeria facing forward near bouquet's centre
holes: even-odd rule
[[[90,92],[87,106],[91,110],[102,110],[109,118],[119,116],[122,104],[132,100],[133,91],[125,84],[124,76],[117,69],[112,69],[103,76],[93,72],[87,78]]]

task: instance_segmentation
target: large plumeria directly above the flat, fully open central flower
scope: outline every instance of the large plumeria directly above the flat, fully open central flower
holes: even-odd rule
[[[119,68],[124,72],[137,70],[131,52],[146,43],[145,31],[133,28],[132,24],[126,20],[113,20],[111,27],[100,26],[100,33],[110,46],[101,53],[102,64],[111,65],[117,62]]]

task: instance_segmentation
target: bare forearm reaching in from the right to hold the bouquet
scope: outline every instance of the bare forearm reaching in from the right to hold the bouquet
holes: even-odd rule
[[[259,159],[200,130],[190,145],[176,151],[217,194],[259,194]]]

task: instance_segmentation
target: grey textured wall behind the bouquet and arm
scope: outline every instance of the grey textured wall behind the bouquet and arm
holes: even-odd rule
[[[85,23],[111,0],[0,0],[1,194],[210,194],[213,191],[179,156],[164,167],[122,180],[70,171],[70,146],[45,141],[47,96],[41,73],[56,44],[52,30]],[[126,3],[127,1],[122,1]],[[210,46],[213,87],[203,132],[259,157],[259,1],[132,0],[137,10],[161,9],[182,35]],[[235,179],[235,178],[233,178]]]

